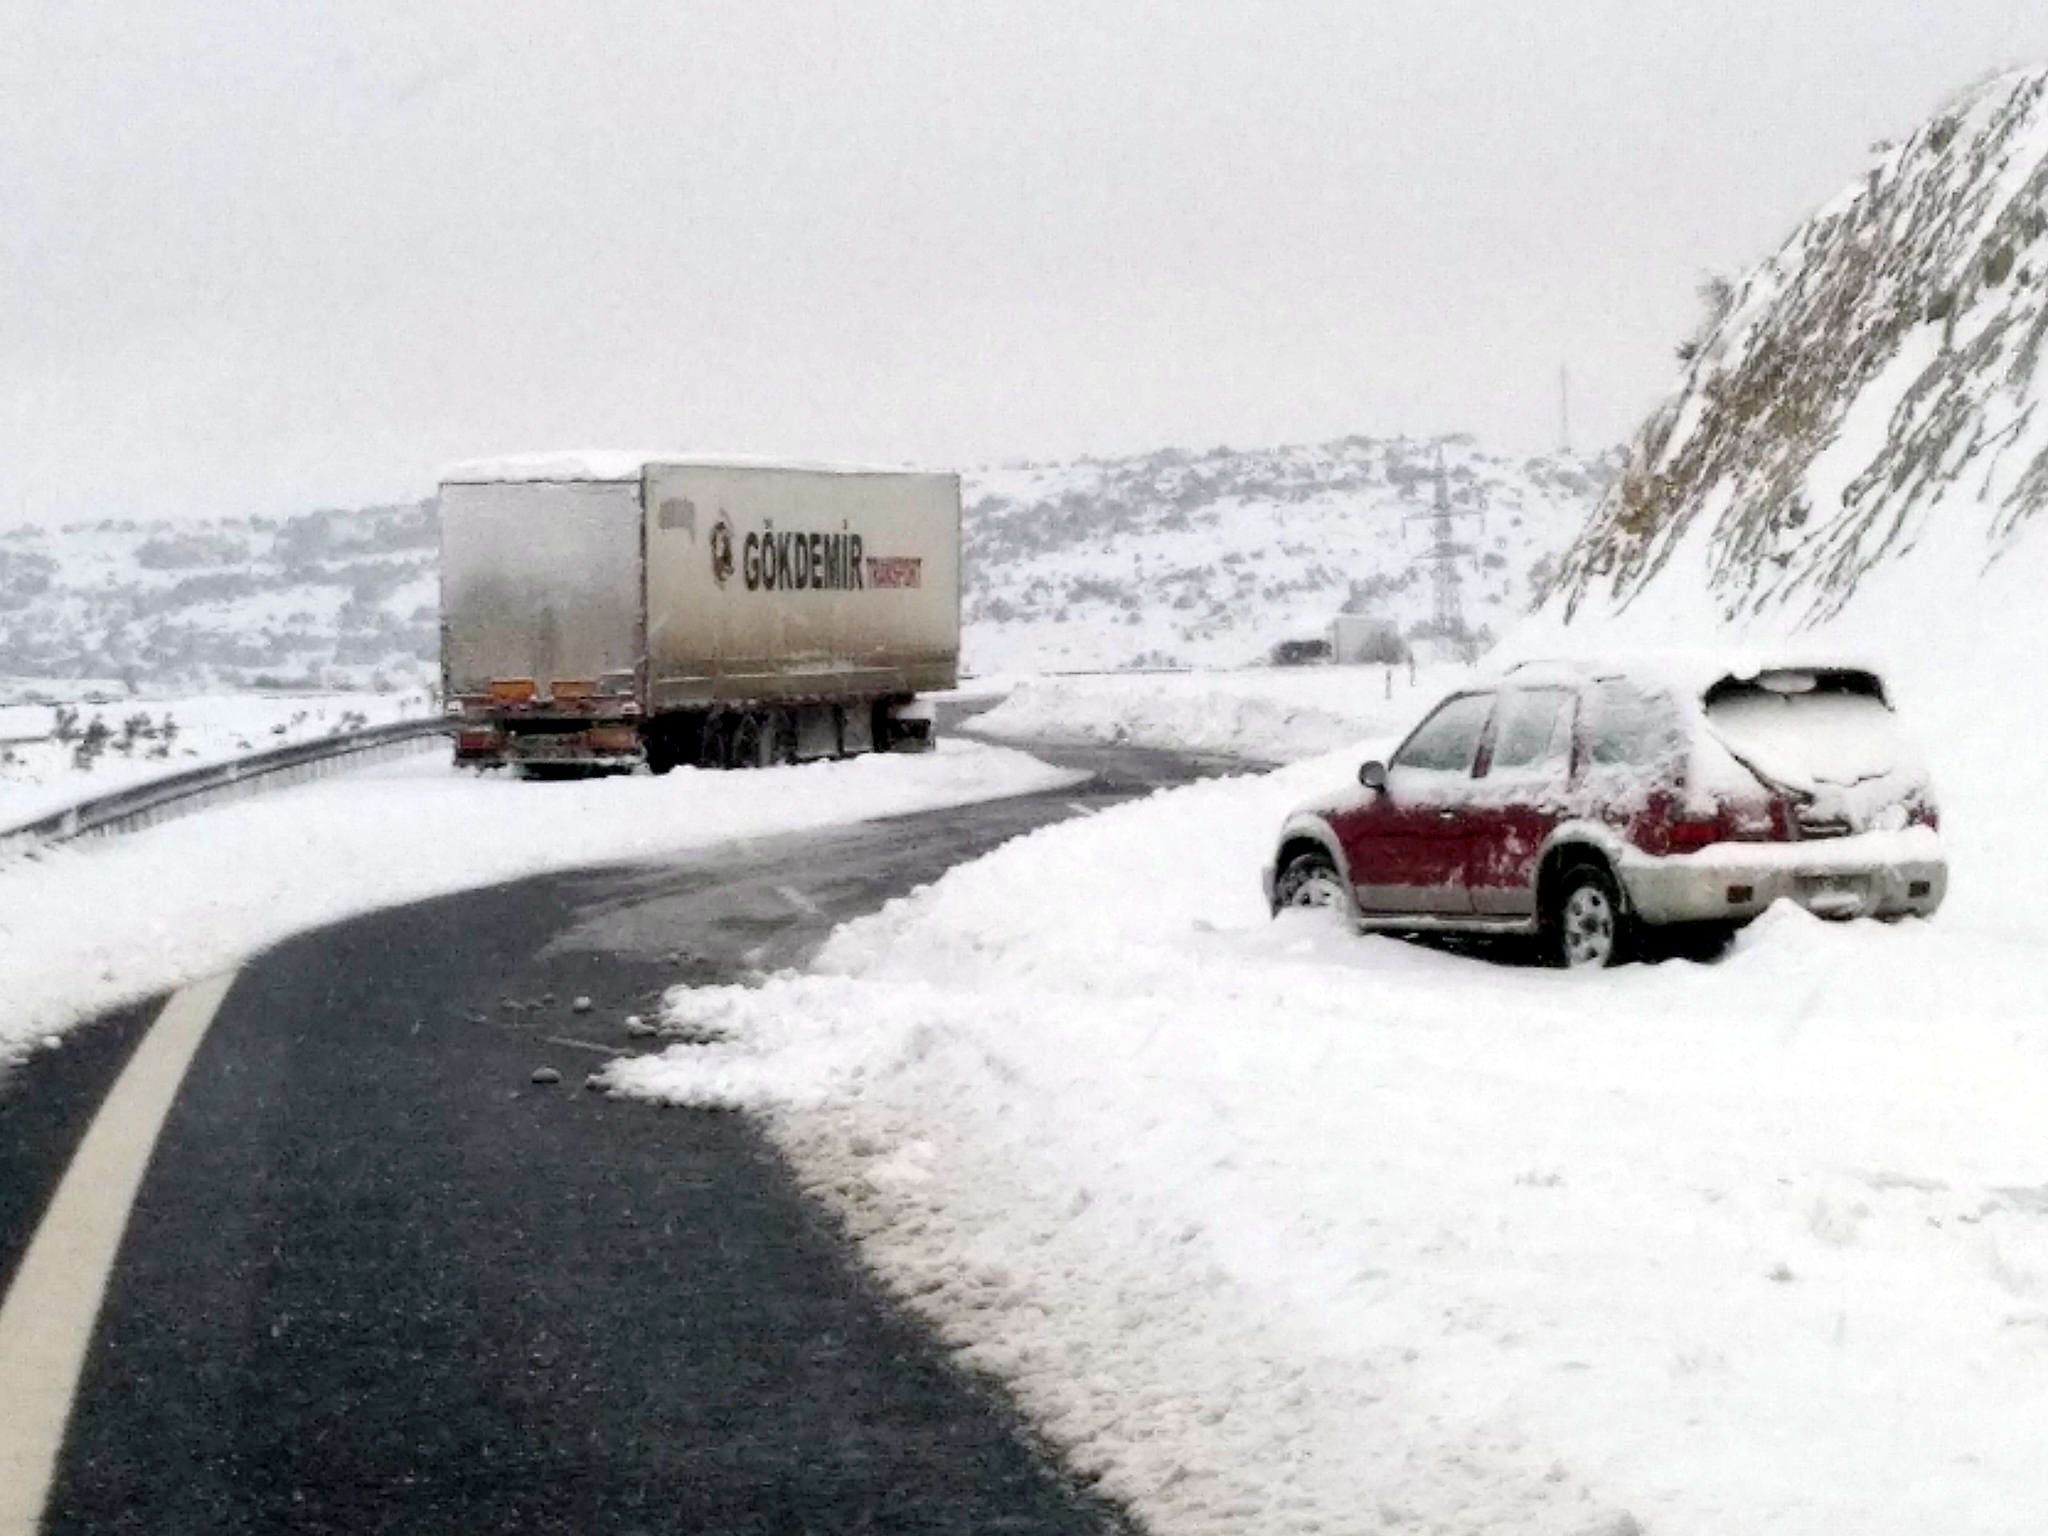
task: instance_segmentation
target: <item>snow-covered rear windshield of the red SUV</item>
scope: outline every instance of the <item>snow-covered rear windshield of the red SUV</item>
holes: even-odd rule
[[[1706,723],[1749,768],[1794,788],[1919,776],[1868,672],[1761,672],[1706,690]]]

